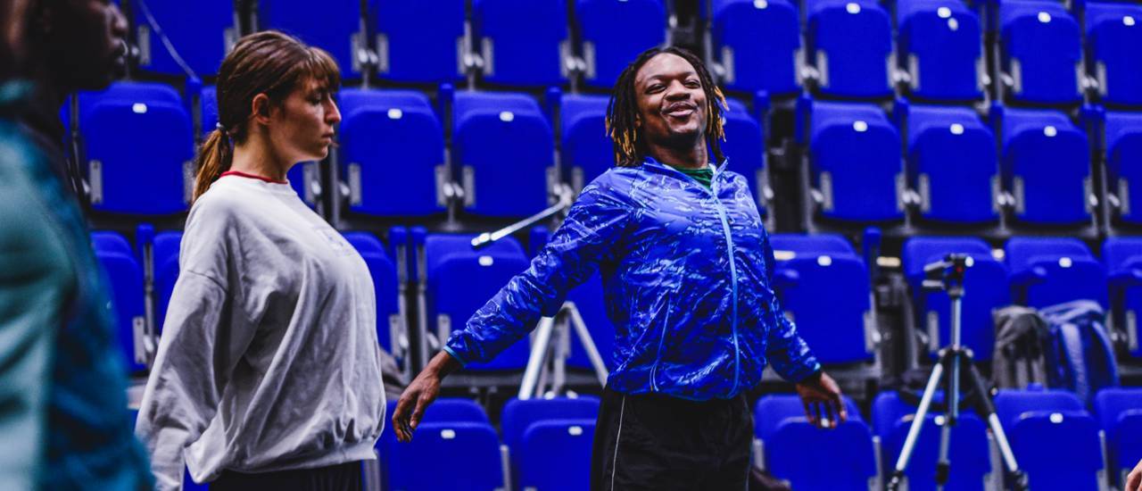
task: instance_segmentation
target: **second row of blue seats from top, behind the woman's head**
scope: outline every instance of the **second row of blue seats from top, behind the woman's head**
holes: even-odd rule
[[[201,106],[188,110],[175,89],[146,82],[119,82],[79,97],[95,210],[186,209],[192,120],[208,130],[217,120],[214,88],[198,99]],[[521,217],[546,208],[556,182],[580,187],[614,162],[603,123],[606,97],[553,99],[545,107],[524,94],[459,91],[433,105],[417,91],[344,89],[337,174],[348,190],[347,211],[441,215],[449,182],[463,190],[464,211],[474,217]],[[1031,225],[1091,223],[1095,203],[1108,199],[1093,185],[1093,147],[1105,155],[1117,217],[1142,224],[1142,193],[1131,192],[1142,169],[1129,164],[1142,158],[1139,113],[1092,112],[1076,123],[1059,111],[997,105],[984,121],[967,107],[899,102],[890,114],[872,104],[803,98],[797,114],[819,212],[830,219],[886,222],[914,214],[934,223],[987,224],[1010,212]],[[750,179],[764,207],[761,118],[734,99],[726,118],[731,168]],[[397,168],[401,178],[394,179]],[[323,185],[313,164],[299,166],[290,180],[311,203],[320,190],[339,187]]]

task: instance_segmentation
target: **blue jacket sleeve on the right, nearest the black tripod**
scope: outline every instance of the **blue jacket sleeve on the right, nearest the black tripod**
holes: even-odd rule
[[[765,249],[765,281],[770,288],[773,285],[773,267],[777,259],[773,257],[773,246],[770,244],[770,234],[764,234],[763,247]],[[774,292],[770,297],[769,311],[773,313],[775,324],[770,327],[765,357],[773,363],[773,371],[781,378],[791,383],[799,383],[806,377],[821,370],[821,363],[813,356],[805,340],[797,335],[797,327],[786,317],[785,309]]]

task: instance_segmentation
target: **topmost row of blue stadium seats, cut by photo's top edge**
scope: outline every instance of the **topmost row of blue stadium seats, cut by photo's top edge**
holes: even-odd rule
[[[135,16],[138,42],[146,47],[144,71],[212,74],[235,39],[232,1],[193,7],[135,1],[145,13]],[[562,86],[581,73],[587,86],[610,88],[635,55],[664,43],[668,32],[660,0],[467,3],[371,0],[362,10],[356,2],[313,9],[300,1],[260,0],[256,17],[262,29],[282,29],[324,47],[349,78],[372,66],[380,80],[440,83],[478,71],[483,81],[508,87]],[[1068,10],[1044,0],[709,3],[701,13],[708,15],[713,61],[734,91],[791,95],[811,79],[822,95],[883,98],[900,81],[924,100],[967,102],[983,98],[989,81],[1000,80],[1011,100],[1076,104],[1095,88],[1108,104],[1142,104],[1142,55],[1129,49],[1142,42],[1139,5],[1075,2]],[[982,25],[981,16],[992,25]],[[984,50],[992,49],[984,42],[988,31],[998,39],[994,69],[986,62]],[[185,69],[156,38],[160,32]]]

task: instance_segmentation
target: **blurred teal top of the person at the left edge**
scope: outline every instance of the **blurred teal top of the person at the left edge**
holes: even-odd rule
[[[153,488],[79,203],[0,82],[0,489]]]

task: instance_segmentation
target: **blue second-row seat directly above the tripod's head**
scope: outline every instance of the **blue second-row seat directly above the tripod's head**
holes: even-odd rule
[[[910,106],[907,162],[925,219],[963,224],[999,219],[995,135],[971,108]]]

